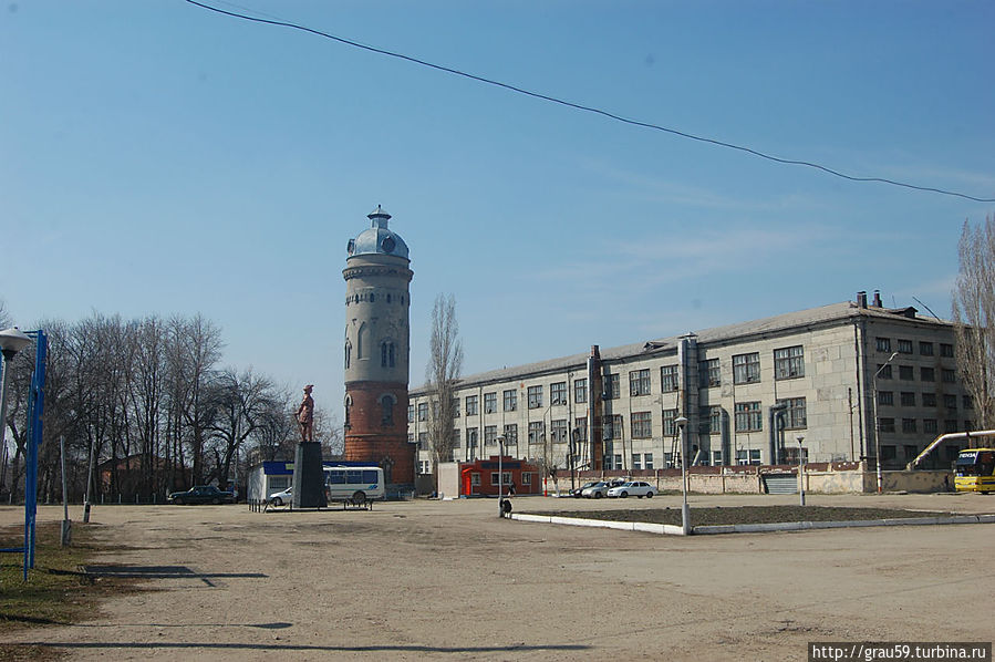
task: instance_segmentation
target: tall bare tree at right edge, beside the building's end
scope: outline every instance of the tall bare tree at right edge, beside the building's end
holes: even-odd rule
[[[957,247],[961,270],[953,292],[957,363],[974,402],[976,425],[995,427],[995,217],[978,227],[964,221]]]

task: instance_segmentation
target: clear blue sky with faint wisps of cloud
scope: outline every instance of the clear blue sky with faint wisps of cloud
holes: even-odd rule
[[[995,3],[215,2],[858,176],[995,197]],[[341,422],[345,245],[465,374],[852,299],[950,314],[995,203],[846,182],[182,0],[0,8],[0,299],[203,313]]]

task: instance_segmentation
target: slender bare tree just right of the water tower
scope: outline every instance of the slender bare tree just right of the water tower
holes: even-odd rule
[[[454,395],[463,370],[463,342],[456,322],[456,300],[439,294],[432,307],[432,339],[425,381],[431,393],[428,433],[432,444],[432,477],[438,489],[438,463],[453,459],[455,448]]]

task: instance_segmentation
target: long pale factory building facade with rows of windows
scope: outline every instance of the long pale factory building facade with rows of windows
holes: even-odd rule
[[[635,470],[878,457],[899,468],[971,430],[953,324],[856,301],[463,377],[456,459],[508,453],[543,469]],[[429,464],[432,393],[410,393],[408,441]],[[877,430],[875,422],[877,421]],[[877,433],[877,436],[875,436]],[[956,456],[941,448],[936,466]],[[930,466],[927,462],[925,466]]]

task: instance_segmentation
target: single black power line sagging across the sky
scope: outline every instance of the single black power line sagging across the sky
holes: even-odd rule
[[[307,25],[299,25],[299,24],[297,24],[297,23],[291,23],[291,22],[288,22],[288,21],[280,21],[280,20],[274,20],[274,19],[271,20],[271,19],[260,19],[260,18],[258,18],[258,17],[250,17],[250,15],[246,15],[246,14],[242,14],[242,13],[237,13],[237,12],[234,12],[234,11],[227,11],[227,10],[224,10],[224,9],[219,9],[219,8],[217,8],[217,7],[211,7],[210,4],[204,4],[203,2],[197,2],[196,0],[185,0],[185,1],[188,2],[188,3],[190,3],[190,4],[194,4],[194,6],[197,6],[197,7],[200,7],[200,8],[203,8],[203,9],[207,9],[207,10],[209,10],[209,11],[214,11],[214,12],[217,12],[217,13],[220,13],[220,14],[229,15],[229,17],[237,18],[237,19],[243,19],[243,20],[246,20],[246,21],[252,21],[252,22],[256,22],[256,23],[266,23],[266,24],[269,24],[269,25],[280,25],[280,27],[282,27],[282,28],[291,28],[291,29],[293,29],[293,30],[301,30],[302,32],[310,32],[311,34],[315,34],[315,35],[318,35],[318,37],[323,37],[323,38],[325,38],[325,39],[331,39],[332,41],[338,41],[339,43],[343,43],[343,44],[345,44],[345,45],[350,45],[350,46],[353,46],[353,48],[356,48],[356,49],[362,49],[362,50],[364,50],[364,51],[370,51],[370,52],[372,52],[372,53],[377,53],[377,54],[380,54],[380,55],[387,55],[387,56],[390,56],[390,58],[396,58],[396,59],[398,59],[398,60],[404,60],[404,61],[411,62],[411,63],[413,63],[413,64],[418,64],[418,65],[421,65],[421,66],[427,66],[427,68],[434,69],[434,70],[436,70],[436,71],[442,71],[442,72],[445,72],[445,73],[450,73],[450,74],[453,74],[453,75],[463,76],[463,77],[469,79],[469,80],[471,80],[471,81],[477,81],[478,83],[486,83],[486,84],[488,84],[488,85],[494,85],[494,86],[496,86],[496,87],[501,87],[501,89],[504,89],[504,90],[508,90],[509,92],[515,92],[515,93],[517,93],[517,94],[524,94],[524,95],[526,95],[526,96],[531,96],[532,99],[538,99],[538,100],[541,100],[541,101],[547,101],[547,102],[550,102],[550,103],[554,103],[554,104],[559,104],[559,105],[562,105],[562,106],[567,106],[568,108],[573,108],[573,110],[577,110],[577,111],[583,111],[583,112],[585,112],[585,113],[593,113],[593,114],[595,114],[595,115],[601,115],[601,116],[603,116],[603,117],[608,117],[608,118],[614,120],[614,121],[616,121],[616,122],[622,122],[623,124],[630,124],[630,125],[632,125],[632,126],[641,126],[641,127],[643,127],[643,128],[651,128],[651,130],[653,130],[653,131],[660,131],[660,132],[663,132],[663,133],[668,133],[668,134],[671,134],[671,135],[675,135],[675,136],[678,136],[678,137],[682,137],[682,138],[687,138],[687,139],[691,139],[691,141],[697,141],[697,142],[699,142],[699,143],[707,143],[707,144],[709,144],[709,145],[715,145],[715,146],[718,146],[718,147],[726,147],[726,148],[728,148],[728,149],[736,149],[736,151],[738,151],[738,152],[745,152],[745,153],[747,153],[747,154],[752,154],[752,155],[754,155],[754,156],[758,156],[759,158],[764,158],[764,159],[767,159],[767,161],[773,161],[774,163],[779,163],[779,164],[785,164],[785,165],[805,166],[805,167],[813,168],[813,169],[817,169],[817,170],[821,170],[821,172],[823,172],[823,173],[827,173],[827,174],[829,174],[829,175],[833,175],[833,176],[836,176],[836,177],[840,177],[840,178],[842,178],[842,179],[848,179],[848,180],[850,180],[850,182],[874,182],[874,183],[878,183],[878,184],[889,184],[889,185],[891,185],[891,186],[900,186],[900,187],[902,187],[902,188],[911,188],[911,189],[913,189],[913,190],[923,190],[923,192],[927,192],[927,193],[939,193],[939,194],[941,194],[941,195],[955,196],[955,197],[964,198],[964,199],[967,199],[967,200],[974,200],[974,201],[976,201],[976,203],[995,203],[995,198],[982,198],[982,197],[975,197],[975,196],[972,196],[972,195],[967,195],[967,194],[963,194],[963,193],[957,193],[957,192],[954,192],[954,190],[947,190],[947,189],[944,189],[944,188],[936,188],[936,187],[932,187],[932,186],[918,186],[918,185],[915,185],[915,184],[909,184],[908,182],[899,182],[899,180],[896,180],[896,179],[888,179],[888,178],[884,178],[884,177],[857,177],[857,176],[854,176],[854,175],[848,175],[848,174],[846,174],[846,173],[842,173],[842,172],[840,172],[840,170],[836,170],[836,169],[833,169],[833,168],[823,166],[823,165],[818,164],[818,163],[815,163],[815,162],[799,161],[799,159],[794,159],[794,158],[781,158],[781,157],[779,157],[779,156],[774,156],[774,155],[770,155],[770,154],[766,154],[766,153],[764,153],[764,152],[759,152],[759,151],[753,149],[753,148],[750,148],[750,147],[745,147],[745,146],[743,146],[743,145],[735,145],[735,144],[733,144],[733,143],[726,143],[726,142],[724,142],[724,141],[719,141],[719,139],[716,139],[716,138],[709,138],[709,137],[705,137],[705,136],[694,135],[694,134],[686,133],[686,132],[683,132],[683,131],[677,131],[676,128],[670,128],[670,127],[666,127],[666,126],[661,126],[661,125],[659,125],[659,124],[653,124],[653,123],[651,123],[651,122],[642,122],[642,121],[640,121],[640,120],[632,120],[632,118],[630,118],[630,117],[623,117],[622,115],[616,115],[616,114],[614,114],[614,113],[610,113],[610,112],[608,112],[608,111],[604,111],[604,110],[601,110],[601,108],[597,108],[597,107],[593,107],[593,106],[585,106],[585,105],[582,105],[582,104],[579,104],[579,103],[573,103],[573,102],[571,102],[571,101],[566,101],[566,100],[562,100],[562,99],[558,99],[558,97],[556,97],[556,96],[550,96],[550,95],[548,95],[548,94],[542,94],[542,93],[539,93],[539,92],[532,92],[532,91],[530,91],[530,90],[525,90],[524,87],[517,87],[517,86],[511,85],[511,84],[508,84],[508,83],[502,83],[502,82],[500,82],[500,81],[495,81],[495,80],[493,80],[493,79],[486,79],[486,77],[484,77],[484,76],[478,76],[478,75],[476,75],[476,74],[467,73],[467,72],[460,71],[460,70],[458,70],[458,69],[453,69],[453,68],[450,68],[450,66],[444,66],[444,65],[442,65],[442,64],[435,64],[435,63],[432,63],[432,62],[427,62],[427,61],[425,61],[425,60],[419,60],[419,59],[413,58],[413,56],[411,56],[411,55],[405,55],[404,53],[395,53],[395,52],[393,52],[393,51],[387,51],[387,50],[380,49],[380,48],[376,48],[376,46],[371,46],[371,45],[367,45],[367,44],[364,44],[364,43],[360,43],[360,42],[357,42],[357,41],[353,41],[353,40],[351,40],[351,39],[345,39],[345,38],[343,38],[343,37],[336,37],[336,35],[334,35],[334,34],[329,34],[328,32],[322,32],[321,30],[314,30],[313,28],[308,28]]]

